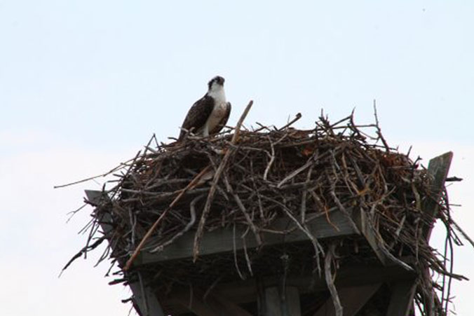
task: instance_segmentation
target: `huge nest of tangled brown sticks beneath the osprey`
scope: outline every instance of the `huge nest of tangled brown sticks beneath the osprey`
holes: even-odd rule
[[[426,169],[418,160],[389,147],[378,124],[355,125],[352,115],[337,123],[321,116],[311,130],[291,125],[239,129],[238,137],[232,131],[212,138],[189,136],[172,144],[158,144],[152,138],[144,153],[113,170],[118,179],[110,182],[113,188],[104,191],[107,199],[94,203],[92,233],[81,253],[108,240],[111,252],[102,259],[109,256],[123,268],[147,232],[141,252],[165,252],[180,236],[194,234],[194,252],[189,258],[135,265],[118,272],[121,278],[116,282],[134,282],[137,273],[147,275],[147,285],[162,296],[175,286],[210,289],[219,282],[282,270],[318,275],[330,252],[337,254],[333,260],[339,266],[377,261],[377,257],[357,236],[336,238],[331,249],[334,238],[318,240],[309,235],[309,242],[296,246],[266,247],[259,234],[287,233],[269,229],[282,217],[299,223],[298,229],[308,233],[307,218],[358,209],[370,217],[395,259],[414,258],[410,266],[419,274],[415,299],[422,314],[433,289],[433,280],[424,271],[430,268],[445,276],[435,284],[440,296],[435,308],[438,315],[445,314],[447,280],[458,276],[452,274],[449,258],[437,254],[421,233],[434,220],[422,209],[431,198],[432,179]],[[448,228],[447,239],[456,241],[445,193],[438,208],[437,217]],[[99,235],[104,219],[111,229]],[[203,235],[235,226],[247,227],[246,233],[255,234],[261,245],[242,252],[199,256]],[[95,242],[94,236],[98,238]],[[358,247],[353,247],[355,243]]]

